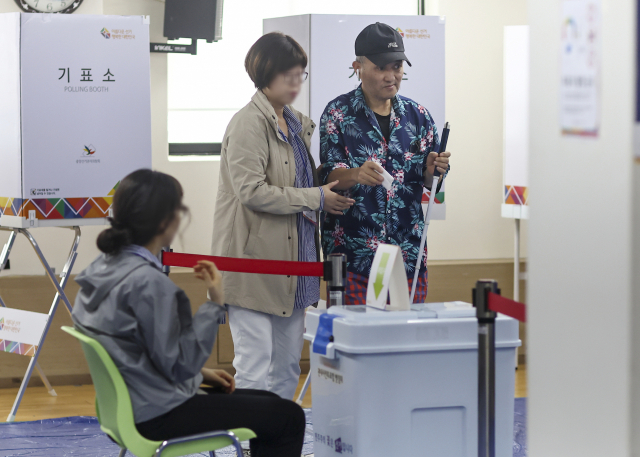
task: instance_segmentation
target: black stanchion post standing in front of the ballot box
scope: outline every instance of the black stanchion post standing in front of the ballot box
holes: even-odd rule
[[[489,292],[498,283],[480,280],[473,289],[478,317],[478,457],[496,455],[496,313],[489,309]]]

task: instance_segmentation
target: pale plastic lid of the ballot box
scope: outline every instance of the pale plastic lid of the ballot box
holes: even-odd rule
[[[327,316],[321,318],[323,314]],[[352,354],[472,350],[478,347],[478,321],[469,303],[414,304],[410,311],[384,311],[368,306],[309,309],[305,339],[313,341],[318,326],[337,351]],[[318,332],[320,333],[320,332]],[[518,322],[496,319],[496,348],[520,346]]]

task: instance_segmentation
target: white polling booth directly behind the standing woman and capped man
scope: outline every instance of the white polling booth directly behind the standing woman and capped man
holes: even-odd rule
[[[445,20],[438,16],[369,16],[309,14],[265,19],[263,32],[282,32],[292,36],[309,58],[309,79],[303,85],[295,107],[316,122],[327,104],[354,90],[360,82],[352,68],[356,37],[369,24],[382,22],[403,36],[405,54],[412,63],[404,66],[400,95],[409,97],[429,110],[438,130],[445,123]],[[316,129],[311,153],[319,163],[320,138]],[[432,219],[444,219],[445,186],[436,195]],[[423,209],[429,201],[423,196]]]

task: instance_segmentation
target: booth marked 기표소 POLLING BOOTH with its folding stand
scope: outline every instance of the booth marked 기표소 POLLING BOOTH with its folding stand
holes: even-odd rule
[[[56,296],[47,314],[0,298],[0,351],[31,357],[9,415],[15,418],[73,268],[80,226],[106,223],[119,182],[151,167],[149,20],[135,16],[0,14],[0,230],[34,248]],[[36,227],[75,231],[56,278]],[[37,331],[36,331],[37,329]]]

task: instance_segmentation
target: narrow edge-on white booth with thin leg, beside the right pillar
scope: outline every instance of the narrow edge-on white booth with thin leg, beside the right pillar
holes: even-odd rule
[[[529,218],[529,26],[504,28],[502,217],[515,220],[514,300],[519,299],[520,220]]]

